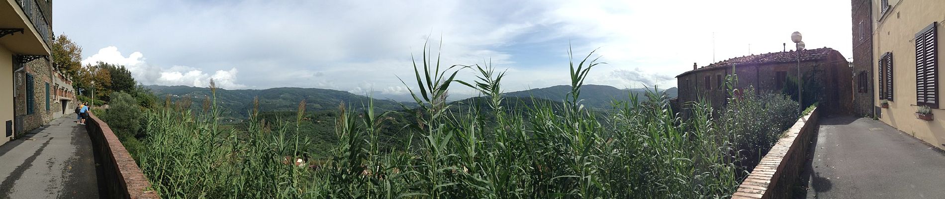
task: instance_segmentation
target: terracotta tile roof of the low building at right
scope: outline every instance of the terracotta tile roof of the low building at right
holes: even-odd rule
[[[800,60],[804,61],[804,60],[811,60],[811,59],[827,58],[828,56],[830,56],[830,53],[833,51],[836,51],[836,50],[833,50],[833,48],[828,48],[828,47],[802,50],[800,51]],[[794,51],[774,52],[774,53],[766,53],[766,54],[761,54],[761,55],[751,55],[751,56],[744,56],[744,57],[738,57],[738,58],[729,58],[723,61],[709,64],[708,66],[699,67],[696,70],[687,71],[685,73],[677,75],[677,77],[681,75],[686,75],[692,72],[696,72],[696,71],[708,70],[713,67],[731,66],[731,64],[742,65],[742,64],[757,64],[757,63],[777,63],[777,62],[787,62],[787,61],[797,61],[797,60],[798,60],[798,53]]]

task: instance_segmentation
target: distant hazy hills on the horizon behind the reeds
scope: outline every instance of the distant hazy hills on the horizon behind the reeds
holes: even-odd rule
[[[172,100],[177,101],[184,96],[189,96],[193,102],[191,108],[194,110],[200,110],[204,98],[209,97],[211,94],[208,88],[189,86],[148,85],[145,86],[145,88],[150,89],[155,95],[158,95],[158,97],[162,99],[164,96],[170,95]],[[668,97],[676,97],[678,95],[678,89],[675,87],[668,90],[650,90],[660,91]],[[523,101],[525,98],[535,97],[548,100],[548,102],[561,102],[565,99],[569,91],[571,91],[571,86],[559,85],[526,91],[512,91],[504,93],[503,95],[509,98],[519,98],[516,101]],[[645,89],[622,90],[604,85],[584,85],[581,87],[580,99],[582,100],[581,103],[589,108],[607,109],[610,108],[610,102],[613,100],[629,100],[629,94],[631,93],[638,94],[642,99],[645,99],[644,91]],[[246,118],[249,116],[249,109],[252,108],[252,100],[257,96],[259,97],[260,111],[294,111],[298,109],[299,102],[303,99],[305,100],[306,111],[334,110],[341,103],[345,103],[345,105],[355,109],[360,109],[367,106],[371,99],[368,96],[354,94],[348,91],[313,88],[216,90],[216,102],[220,108],[223,108],[223,115],[232,116],[233,118]],[[374,96],[376,97],[377,95]],[[472,98],[458,100],[457,102],[469,102]],[[403,104],[407,108],[416,107],[416,104],[413,102],[403,102]],[[403,109],[403,107],[394,100],[377,98],[374,99],[374,107],[378,112]]]

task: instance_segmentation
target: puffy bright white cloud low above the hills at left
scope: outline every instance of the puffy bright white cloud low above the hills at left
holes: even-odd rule
[[[245,89],[246,85],[236,83],[236,74],[239,72],[236,68],[229,71],[219,70],[213,75],[204,73],[198,68],[188,66],[172,66],[170,68],[161,68],[152,66],[145,61],[145,55],[141,52],[134,52],[125,57],[118,51],[118,47],[108,46],[98,50],[97,54],[82,59],[83,65],[92,65],[97,62],[105,62],[117,65],[123,65],[131,72],[131,76],[139,83],[150,85],[185,85],[193,87],[207,87],[210,85],[210,79],[214,79],[215,84],[223,89]]]

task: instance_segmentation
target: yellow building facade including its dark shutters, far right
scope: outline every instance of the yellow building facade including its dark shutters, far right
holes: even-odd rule
[[[872,5],[876,116],[945,149],[945,104],[940,102],[945,97],[940,47],[945,1],[872,0]],[[923,107],[931,108],[931,120],[918,114]]]

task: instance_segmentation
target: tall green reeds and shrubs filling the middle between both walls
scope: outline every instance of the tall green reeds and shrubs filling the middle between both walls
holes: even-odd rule
[[[741,181],[742,153],[766,151],[768,134],[797,119],[783,95],[750,90],[723,110],[693,103],[689,118],[656,91],[597,112],[581,100],[600,64],[592,56],[572,61],[571,86],[551,101],[506,97],[504,72],[440,66],[424,48],[413,106],[381,111],[384,102],[367,100],[309,112],[309,98],[290,94],[280,100],[299,99],[295,112],[261,111],[257,98],[237,126],[220,124],[218,101],[236,94],[211,83],[198,108],[192,97],[146,108],[132,153],[163,198],[723,198]],[[479,75],[455,79],[460,70]],[[483,97],[446,102],[457,85]],[[135,104],[113,96],[113,106]]]

